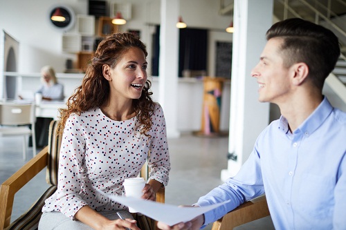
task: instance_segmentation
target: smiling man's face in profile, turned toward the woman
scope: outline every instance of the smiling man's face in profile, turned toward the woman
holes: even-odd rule
[[[284,67],[280,45],[282,39],[267,41],[260,62],[251,71],[259,86],[259,101],[280,104],[286,102],[291,94],[290,70]]]

